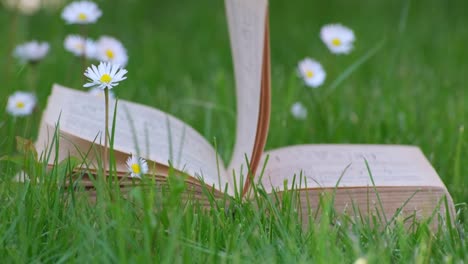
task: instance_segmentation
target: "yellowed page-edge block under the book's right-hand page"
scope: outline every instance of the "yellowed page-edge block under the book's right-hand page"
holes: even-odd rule
[[[317,216],[315,219],[320,219],[319,215],[324,213],[324,210],[322,210],[323,204],[321,203],[326,196],[329,199],[333,197],[334,211],[338,215],[346,214],[347,217],[358,222],[379,215],[379,218],[385,224],[385,219],[390,221],[398,213],[398,218],[401,220],[406,219],[406,226],[409,227],[409,225],[414,224],[415,220],[426,221],[435,215],[436,217],[433,218],[430,226],[437,232],[438,223],[441,223],[438,222],[441,218],[437,217],[437,215],[445,216],[446,209],[448,209],[452,217],[456,217],[450,194],[440,187],[377,187],[376,191],[367,187],[308,189],[301,190],[298,194],[299,201],[292,206],[295,206],[294,209],[298,211],[299,216],[302,218],[303,227],[314,224],[309,222],[311,215]],[[279,197],[281,200],[282,195],[282,192],[278,192],[272,198],[277,199]],[[448,200],[448,207],[443,202],[444,197]]]

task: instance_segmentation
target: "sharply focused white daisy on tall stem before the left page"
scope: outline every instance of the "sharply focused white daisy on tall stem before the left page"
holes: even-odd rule
[[[100,89],[112,89],[119,85],[120,81],[127,79],[125,74],[127,70],[120,68],[120,65],[109,62],[101,62],[99,66],[91,65],[84,73],[89,78],[88,83],[84,87],[96,87]]]

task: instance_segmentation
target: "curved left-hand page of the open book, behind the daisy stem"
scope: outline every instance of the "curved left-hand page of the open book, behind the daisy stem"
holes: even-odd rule
[[[110,122],[114,105],[115,101],[110,100]],[[104,112],[104,98],[54,85],[43,122],[54,127],[60,120],[62,133],[104,145]],[[171,161],[176,170],[202,177],[206,184],[218,189],[228,183],[222,160],[205,138],[177,118],[144,105],[118,101],[114,149],[139,153],[165,166]]]

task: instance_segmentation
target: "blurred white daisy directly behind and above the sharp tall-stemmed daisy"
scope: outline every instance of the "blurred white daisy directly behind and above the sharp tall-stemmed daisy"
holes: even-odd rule
[[[102,36],[96,42],[96,56],[101,61],[109,61],[125,67],[128,62],[127,50],[113,37]]]

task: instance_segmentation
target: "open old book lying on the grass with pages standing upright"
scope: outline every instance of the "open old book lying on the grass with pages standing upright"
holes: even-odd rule
[[[445,210],[443,203],[437,207],[444,196],[449,201],[448,209],[453,210],[446,187],[417,147],[299,145],[264,152],[270,116],[267,0],[226,0],[226,12],[237,95],[236,141],[231,161],[224,165],[214,147],[179,119],[119,100],[114,151],[122,186],[132,183],[125,161],[134,153],[149,162],[149,175],[161,184],[165,183],[170,166],[189,175],[187,184],[195,198],[202,195],[202,179],[216,196],[223,196],[224,192],[234,195],[235,186],[239,188],[240,183],[244,184],[240,187],[247,199],[250,186],[257,183],[268,192],[299,189],[301,200],[308,200],[302,203],[304,212],[308,206],[317,206],[322,191],[336,192],[335,206],[339,211],[351,211],[355,205],[363,211],[374,210],[380,199],[384,210],[381,213],[387,217],[403,205],[403,213],[427,217],[434,210]],[[49,160],[85,156],[88,173],[92,174],[98,169],[101,153],[96,147],[104,145],[103,101],[86,92],[54,85],[40,125],[38,151],[54,149],[54,132],[59,124],[59,148],[51,152]],[[294,183],[294,177],[302,179],[301,185]],[[89,178],[81,181],[92,185]]]

